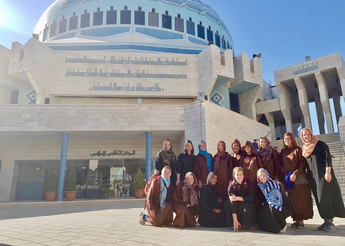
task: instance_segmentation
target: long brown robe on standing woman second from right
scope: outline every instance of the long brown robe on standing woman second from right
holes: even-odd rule
[[[295,210],[292,219],[295,221],[312,218],[311,189],[306,178],[307,166],[306,160],[302,156],[302,149],[298,146],[283,148],[280,152],[280,158],[284,178],[290,171],[297,176],[294,186],[286,188]],[[286,184],[285,179],[284,184]]]

